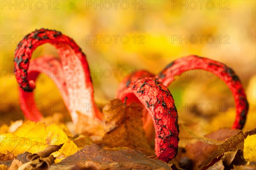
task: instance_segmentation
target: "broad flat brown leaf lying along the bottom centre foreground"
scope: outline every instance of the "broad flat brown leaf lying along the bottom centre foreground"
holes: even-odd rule
[[[70,169],[74,165],[83,167],[93,161],[99,165],[102,170],[124,170],[124,169],[163,169],[171,170],[172,165],[164,161],[148,158],[139,150],[104,150],[97,144],[84,147],[72,156],[63,159],[57,164],[52,164],[50,170]]]

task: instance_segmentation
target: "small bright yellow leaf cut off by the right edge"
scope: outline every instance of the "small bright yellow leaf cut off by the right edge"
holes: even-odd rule
[[[256,135],[248,135],[244,140],[244,158],[256,162]]]

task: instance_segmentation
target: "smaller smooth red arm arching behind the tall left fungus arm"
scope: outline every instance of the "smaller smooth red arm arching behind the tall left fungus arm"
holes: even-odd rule
[[[55,85],[61,92],[61,96],[64,100],[66,107],[69,108],[65,76],[61,67],[60,60],[58,58],[49,55],[44,55],[40,58],[36,58],[31,61],[27,73],[27,79],[32,83],[36,81],[40,74],[46,74],[50,78],[52,78],[52,81],[54,81]],[[29,108],[23,110],[26,118],[32,121],[40,121],[43,116],[41,115],[41,112],[39,112],[38,109],[35,108],[36,103],[33,91],[26,92],[22,88],[19,88],[19,94],[20,104],[23,104],[25,108]]]

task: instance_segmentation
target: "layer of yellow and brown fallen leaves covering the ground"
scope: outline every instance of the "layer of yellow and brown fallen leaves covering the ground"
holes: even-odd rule
[[[92,136],[88,134],[75,136],[69,134],[68,136],[67,129],[63,130],[63,127],[59,127],[56,124],[45,125],[43,123],[25,121],[15,132],[1,134],[3,147],[1,147],[0,153],[2,154],[1,157],[3,156],[5,159],[0,161],[0,164],[10,167],[13,161],[17,161],[21,162],[24,167],[26,166],[24,164],[27,163],[30,168],[40,167],[53,170],[58,168],[83,169],[88,167],[93,167],[94,169],[122,169],[124,167],[140,169],[143,167],[145,169],[162,168],[172,170],[181,169],[177,162],[180,164],[182,159],[186,159],[192,161],[194,169],[198,169],[201,165],[202,170],[207,168],[246,169],[255,167],[255,164],[253,164],[253,162],[255,163],[253,161],[255,156],[251,152],[253,147],[255,148],[255,144],[251,142],[255,139],[255,129],[245,133],[231,129],[217,130],[205,135],[202,137],[203,140],[197,141],[196,144],[181,148],[177,161],[175,158],[169,164],[166,164],[155,156],[154,149],[149,146],[145,138],[141,119],[143,107],[138,104],[126,106],[126,104],[117,99],[112,100],[110,106],[111,108],[103,108],[105,125],[102,127],[104,127],[105,135],[101,139],[102,141],[92,140]],[[95,135],[95,131],[92,135]],[[189,135],[200,138],[199,135],[191,131]],[[42,138],[44,142],[30,140],[31,137]],[[246,137],[248,139],[245,140]],[[6,138],[9,138],[10,141],[15,139],[23,140],[26,141],[26,144],[21,146],[11,142],[11,145],[9,145],[9,141],[6,141]],[[53,140],[54,138],[58,138],[58,140]],[[125,143],[120,140],[118,142],[116,139],[123,139]],[[216,145],[218,142],[219,146]],[[5,143],[8,145],[5,146]],[[63,146],[58,152],[49,155],[49,153],[45,154],[43,152],[52,147],[49,144],[63,144]],[[244,150],[244,148],[247,148],[248,151]],[[40,157],[41,153],[47,157]],[[16,156],[16,158],[12,155]],[[27,156],[34,162],[28,163]],[[56,157],[58,161],[53,163]],[[249,161],[251,163],[248,164]],[[13,164],[17,165],[17,162]]]

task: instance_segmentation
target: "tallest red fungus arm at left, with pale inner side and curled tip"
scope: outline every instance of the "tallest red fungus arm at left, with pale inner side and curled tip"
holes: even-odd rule
[[[75,41],[61,32],[39,29],[26,35],[15,50],[15,75],[20,88],[32,92],[35,78],[29,79],[28,69],[32,52],[40,45],[50,43],[58,50],[62,71],[65,75],[68,104],[73,122],[77,122],[79,111],[89,117],[96,117],[94,109],[93,86],[86,56]],[[32,99],[31,99],[32,100]],[[26,113],[25,113],[26,114]],[[40,116],[34,115],[35,120]]]

